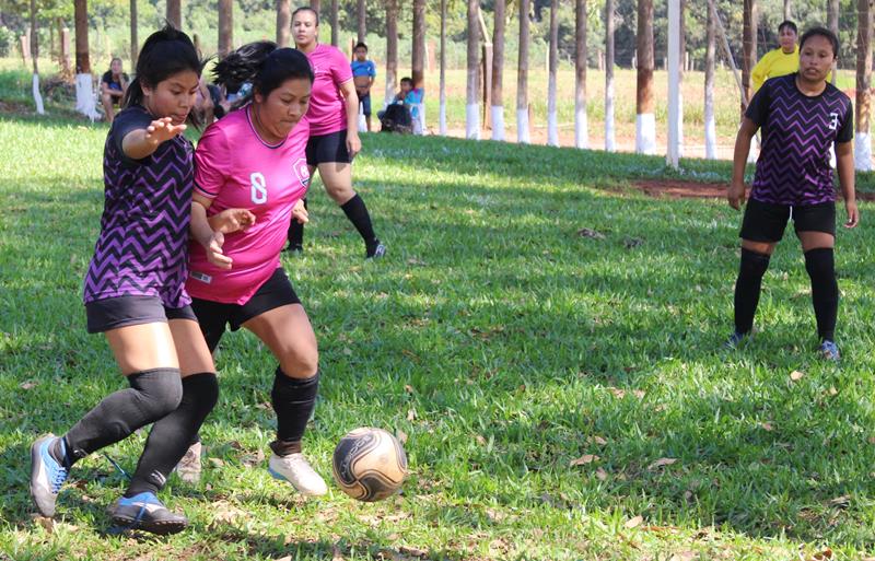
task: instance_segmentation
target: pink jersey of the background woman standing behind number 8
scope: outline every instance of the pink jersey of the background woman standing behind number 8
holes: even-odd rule
[[[307,58],[315,77],[307,110],[310,133],[322,136],[346,130],[347,106],[340,84],[352,80],[349,60],[337,47],[322,44]]]

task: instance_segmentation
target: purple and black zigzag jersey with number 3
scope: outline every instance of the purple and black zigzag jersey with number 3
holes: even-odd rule
[[[851,100],[827,83],[809,97],[796,74],[762,84],[745,116],[759,125],[762,150],[750,197],[773,204],[817,204],[836,200],[829,149],[853,139]]]

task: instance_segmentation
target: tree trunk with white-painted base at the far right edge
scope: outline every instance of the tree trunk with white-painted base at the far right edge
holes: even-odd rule
[[[870,110],[872,84],[872,2],[856,1],[856,135],[854,135],[854,167],[872,170]]]

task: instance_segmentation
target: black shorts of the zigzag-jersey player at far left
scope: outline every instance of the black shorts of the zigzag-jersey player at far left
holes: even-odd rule
[[[89,302],[85,319],[90,334],[130,325],[167,323],[168,319],[197,322],[191,306],[166,307],[158,296],[117,296]]]

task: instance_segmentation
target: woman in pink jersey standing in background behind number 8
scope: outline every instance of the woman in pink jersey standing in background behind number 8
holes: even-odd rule
[[[382,257],[386,247],[380,243],[371,215],[362,198],[352,188],[352,159],[362,148],[359,140],[359,95],[347,57],[330,45],[318,42],[319,15],[310,7],[292,13],[294,43],[313,67],[313,97],[307,112],[310,173],[319,171],[328,196],[337,202],[364,239],[365,258]],[[304,225],[292,223],[289,249],[302,252]]]

